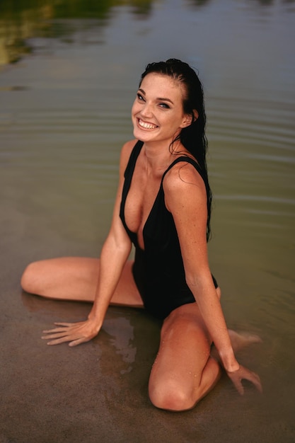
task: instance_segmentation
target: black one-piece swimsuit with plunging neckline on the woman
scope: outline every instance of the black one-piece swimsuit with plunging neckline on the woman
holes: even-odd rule
[[[125,202],[135,163],[141,151],[143,142],[137,142],[130,155],[125,170],[125,183],[122,190],[120,218],[127,234],[135,246],[133,275],[144,307],[158,318],[166,318],[173,309],[187,303],[194,303],[195,297],[185,282],[185,269],[181,256],[178,234],[172,214],[168,211],[164,200],[163,179],[166,173],[176,163],[185,161],[191,163],[202,176],[202,171],[196,161],[188,156],[181,156],[163,173],[160,189],[149,217],[144,225],[144,251],[137,241],[137,234],[130,231],[125,222]],[[213,278],[215,287],[216,280]]]

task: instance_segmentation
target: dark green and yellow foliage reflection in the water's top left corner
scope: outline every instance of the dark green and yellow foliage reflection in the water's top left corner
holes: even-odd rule
[[[15,63],[22,54],[31,51],[30,38],[69,38],[88,19],[87,28],[106,25],[111,9],[115,6],[130,6],[137,16],[147,17],[152,0],[9,0],[0,4],[0,65]],[[70,40],[68,40],[70,41]]]

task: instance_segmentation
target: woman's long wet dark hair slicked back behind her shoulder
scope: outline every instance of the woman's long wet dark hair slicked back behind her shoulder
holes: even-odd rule
[[[189,64],[178,59],[168,59],[166,62],[154,62],[146,66],[146,70],[141,74],[142,80],[148,74],[162,74],[178,81],[183,86],[183,110],[185,114],[192,116],[190,126],[183,128],[178,137],[173,142],[180,140],[187,151],[192,154],[199,163],[202,170],[202,178],[207,190],[207,241],[210,237],[210,217],[212,207],[212,192],[209,186],[207,173],[207,137],[205,134],[206,113],[204,110],[204,92],[199,77]],[[194,110],[197,110],[198,117],[195,117]],[[173,143],[172,143],[173,145]]]

